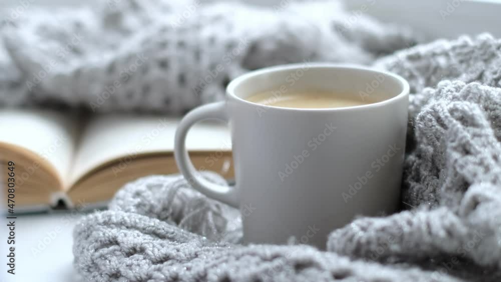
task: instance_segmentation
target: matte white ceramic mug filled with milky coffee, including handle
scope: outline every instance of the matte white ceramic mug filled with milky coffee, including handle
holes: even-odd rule
[[[350,93],[380,102],[332,109],[280,108],[244,100],[275,90]],[[409,85],[392,73],[359,66],[297,64],[233,80],[226,101],[198,107],[180,122],[175,157],[201,193],[240,207],[245,242],[297,242],[325,248],[329,232],[356,215],[399,206]],[[196,174],[185,148],[189,128],[229,122],[236,184]],[[207,136],[210,138],[210,136]]]

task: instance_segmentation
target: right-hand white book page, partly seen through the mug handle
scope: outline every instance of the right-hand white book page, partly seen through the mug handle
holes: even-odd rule
[[[92,169],[141,154],[173,152],[174,134],[180,118],[165,116],[101,115],[92,118],[82,132],[71,172],[72,183]],[[229,130],[222,121],[195,124],[188,132],[189,151],[231,151]]]

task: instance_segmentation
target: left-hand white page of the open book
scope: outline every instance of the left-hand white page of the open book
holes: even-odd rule
[[[0,110],[0,142],[37,153],[53,165],[66,182],[77,132],[77,118],[67,114],[35,109]]]

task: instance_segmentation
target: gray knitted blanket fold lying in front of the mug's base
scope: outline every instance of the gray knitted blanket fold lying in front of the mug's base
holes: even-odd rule
[[[117,193],[110,210],[75,227],[74,264],[90,281],[424,282],[433,275],[416,266],[351,260],[307,245],[235,244],[234,234],[241,230],[235,215],[235,209],[194,191],[181,176],[139,179]]]

